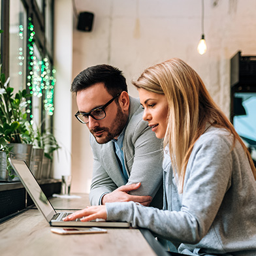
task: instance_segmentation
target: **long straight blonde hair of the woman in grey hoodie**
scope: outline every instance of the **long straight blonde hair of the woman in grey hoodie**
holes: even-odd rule
[[[146,69],[133,84],[136,88],[164,94],[168,102],[167,131],[164,146],[169,145],[172,167],[183,191],[185,170],[197,139],[210,123],[224,127],[238,140],[249,160],[253,176],[256,170],[248,149],[231,122],[214,103],[199,74],[181,59],[174,58]]]

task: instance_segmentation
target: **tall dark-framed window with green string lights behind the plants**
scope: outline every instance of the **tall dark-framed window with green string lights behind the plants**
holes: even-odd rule
[[[53,22],[52,0],[1,1],[3,72],[14,93],[31,94],[28,118],[42,129],[52,128],[54,114]]]

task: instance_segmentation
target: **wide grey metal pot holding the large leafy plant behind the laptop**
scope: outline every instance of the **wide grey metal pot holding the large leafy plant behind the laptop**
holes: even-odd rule
[[[31,144],[22,144],[22,143],[10,143],[7,145],[9,148],[12,148],[10,152],[12,152],[12,158],[24,160],[27,166],[30,165],[31,161],[31,152],[33,145]],[[20,178],[17,176],[16,172],[12,169],[11,174],[14,174],[15,178],[10,178],[8,176],[8,181],[17,182],[20,181]]]

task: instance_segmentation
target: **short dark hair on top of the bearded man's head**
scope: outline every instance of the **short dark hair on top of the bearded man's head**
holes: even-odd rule
[[[71,92],[77,93],[93,84],[104,83],[106,91],[113,97],[122,91],[127,91],[127,84],[122,72],[110,65],[102,64],[88,67],[78,74],[71,85]]]

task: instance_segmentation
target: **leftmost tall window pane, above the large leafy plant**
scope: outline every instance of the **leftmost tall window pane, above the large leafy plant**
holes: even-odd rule
[[[20,0],[10,1],[10,86],[25,89],[26,14]]]

